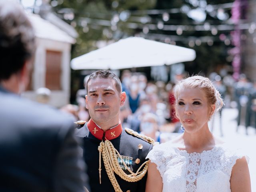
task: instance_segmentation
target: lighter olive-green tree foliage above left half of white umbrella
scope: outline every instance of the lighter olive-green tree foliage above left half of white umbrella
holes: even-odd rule
[[[115,14],[120,14],[124,10],[150,9],[156,4],[156,0],[64,0],[59,2],[61,3],[54,7],[55,12],[62,18],[64,18],[63,10],[66,8],[73,12],[74,20],[66,20],[66,22],[74,26],[79,34],[72,48],[72,58],[95,50],[96,41],[119,39],[122,35],[134,34],[134,30],[127,28],[123,28],[125,31],[120,32],[122,24],[118,26],[118,30],[111,29],[110,21]],[[100,24],[97,23],[99,21]]]

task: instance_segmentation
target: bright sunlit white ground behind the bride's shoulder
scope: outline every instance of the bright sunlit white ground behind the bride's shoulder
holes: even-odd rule
[[[256,192],[256,129],[248,128],[248,135],[245,134],[244,126],[239,126],[236,132],[236,116],[238,111],[236,109],[223,109],[222,110],[222,130],[223,139],[234,146],[242,148],[245,154],[250,158],[249,170],[252,184],[252,192]],[[214,127],[213,133],[220,136],[220,118],[218,115],[213,118]],[[210,122],[209,127],[212,126]]]

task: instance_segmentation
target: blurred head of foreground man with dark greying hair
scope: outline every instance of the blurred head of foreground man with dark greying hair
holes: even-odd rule
[[[34,54],[34,30],[22,7],[0,0],[0,82],[13,92],[28,84]]]

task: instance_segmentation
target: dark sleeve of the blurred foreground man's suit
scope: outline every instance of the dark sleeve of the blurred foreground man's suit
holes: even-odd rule
[[[74,137],[74,127],[64,134],[62,129],[59,133],[60,150],[54,164],[54,191],[56,192],[84,192],[84,186],[88,188],[88,178],[85,174],[85,164],[79,154],[78,140]]]

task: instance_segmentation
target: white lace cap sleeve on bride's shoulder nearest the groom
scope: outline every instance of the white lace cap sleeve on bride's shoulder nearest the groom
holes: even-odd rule
[[[164,145],[155,145],[146,158],[149,158],[151,162],[156,164],[158,171],[163,177],[163,174],[166,171],[166,148]]]

